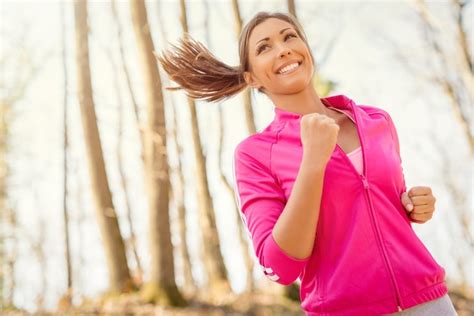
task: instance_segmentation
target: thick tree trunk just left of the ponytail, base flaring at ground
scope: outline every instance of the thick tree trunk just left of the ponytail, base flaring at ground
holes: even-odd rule
[[[169,220],[169,174],[166,121],[161,80],[153,55],[154,46],[144,0],[130,1],[140,61],[145,75],[147,123],[145,177],[149,200],[151,271],[144,298],[164,305],[183,306],[186,301],[175,282],[173,245]]]

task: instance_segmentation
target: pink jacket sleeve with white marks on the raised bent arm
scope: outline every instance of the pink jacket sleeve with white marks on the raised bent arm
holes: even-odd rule
[[[272,230],[286,205],[286,198],[267,164],[259,161],[265,157],[257,160],[250,153],[258,154],[255,147],[240,143],[233,157],[239,214],[265,276],[289,285],[299,277],[309,258],[298,259],[286,254],[273,238]]]

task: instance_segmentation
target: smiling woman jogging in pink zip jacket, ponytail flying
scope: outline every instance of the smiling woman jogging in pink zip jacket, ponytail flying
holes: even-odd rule
[[[318,96],[294,17],[250,20],[238,67],[191,39],[181,44],[157,56],[179,84],[171,89],[214,102],[249,86],[275,104],[274,120],[237,145],[233,164],[240,214],[268,278],[299,278],[307,315],[456,315],[444,268],[411,226],[432,217],[431,189],[406,192],[386,111]]]

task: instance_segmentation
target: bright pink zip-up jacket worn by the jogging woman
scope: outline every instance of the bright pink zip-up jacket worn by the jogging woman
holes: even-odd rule
[[[446,272],[400,200],[406,186],[390,115],[345,95],[322,99],[354,115],[364,168],[359,174],[336,144],[310,257],[286,254],[271,234],[300,166],[302,115],[275,108],[274,120],[234,152],[236,200],[264,274],[283,285],[299,278],[307,315],[382,315],[443,296]]]

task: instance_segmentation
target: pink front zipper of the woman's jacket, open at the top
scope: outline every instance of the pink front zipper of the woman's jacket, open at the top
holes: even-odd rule
[[[355,120],[355,125],[356,125],[356,128],[357,128],[357,135],[359,136],[360,147],[362,149],[362,162],[363,162],[362,174],[360,174],[357,171],[354,164],[352,163],[352,161],[347,156],[346,152],[337,143],[336,143],[336,148],[339,149],[339,151],[342,153],[342,156],[345,157],[346,161],[351,165],[352,170],[357,174],[357,176],[359,176],[359,178],[361,179],[361,181],[364,185],[364,190],[367,193],[366,196],[367,196],[367,200],[369,202],[368,204],[369,204],[369,208],[370,208],[370,213],[372,214],[372,220],[374,222],[375,231],[376,231],[376,234],[377,234],[377,237],[378,237],[377,239],[378,239],[378,241],[380,243],[380,247],[382,249],[382,256],[384,257],[385,264],[386,264],[386,266],[388,267],[388,270],[389,270],[390,279],[392,280],[392,285],[393,285],[393,288],[395,290],[395,298],[397,300],[397,308],[398,308],[398,311],[400,312],[400,311],[402,311],[401,303],[400,303],[400,293],[399,293],[399,290],[398,290],[397,282],[395,281],[395,276],[393,274],[392,267],[390,265],[390,262],[388,261],[388,256],[387,256],[386,250],[385,250],[385,248],[383,246],[383,243],[382,243],[382,237],[381,237],[379,227],[377,226],[377,222],[375,220],[374,209],[373,209],[373,205],[371,203],[370,194],[369,194],[369,182],[367,181],[367,169],[366,169],[366,157],[365,157],[365,152],[364,152],[364,144],[363,144],[363,141],[362,141],[361,131],[359,129],[359,124],[357,122],[357,115],[355,113],[354,106],[353,106],[352,103],[351,103],[351,108],[352,108],[352,113],[353,113],[354,120]]]

